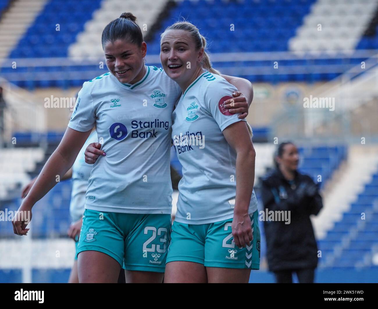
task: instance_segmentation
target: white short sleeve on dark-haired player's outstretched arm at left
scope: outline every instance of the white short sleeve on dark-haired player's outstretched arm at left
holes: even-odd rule
[[[95,126],[96,115],[93,107],[93,100],[87,82],[77,95],[75,108],[73,110],[68,127],[76,131],[87,132]]]

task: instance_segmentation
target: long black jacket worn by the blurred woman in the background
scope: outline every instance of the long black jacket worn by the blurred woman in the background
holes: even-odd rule
[[[298,172],[289,182],[279,169],[261,181],[264,212],[290,211],[290,224],[264,221],[269,270],[315,268],[318,247],[310,215],[317,215],[323,207],[318,186],[310,176]]]

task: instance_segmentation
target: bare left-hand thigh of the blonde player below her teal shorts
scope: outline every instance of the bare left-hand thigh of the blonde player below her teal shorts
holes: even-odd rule
[[[203,264],[173,261],[166,265],[164,283],[207,283],[208,277]]]

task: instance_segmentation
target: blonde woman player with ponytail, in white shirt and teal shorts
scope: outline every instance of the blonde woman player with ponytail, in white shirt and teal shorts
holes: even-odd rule
[[[256,154],[248,124],[225,106],[236,88],[211,67],[189,22],[161,34],[160,60],[182,91],[172,140],[183,178],[164,282],[248,283],[260,265]]]

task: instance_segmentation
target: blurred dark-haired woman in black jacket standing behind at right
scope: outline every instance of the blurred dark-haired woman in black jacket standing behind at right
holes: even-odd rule
[[[264,212],[290,212],[286,222],[264,220],[268,266],[277,283],[313,283],[318,247],[310,215],[323,207],[318,186],[297,170],[299,154],[292,142],[279,145],[276,168],[262,179]],[[281,215],[281,218],[283,216]]]

